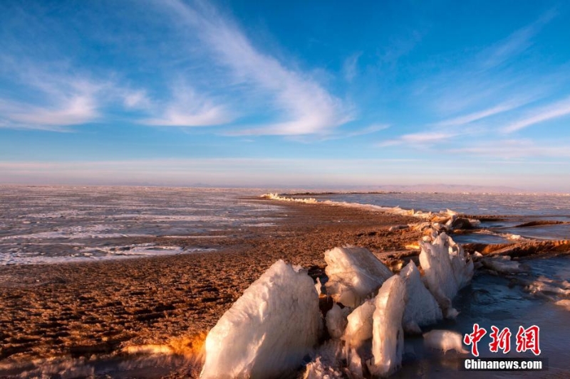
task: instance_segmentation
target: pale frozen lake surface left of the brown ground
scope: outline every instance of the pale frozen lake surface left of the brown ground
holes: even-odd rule
[[[181,254],[152,237],[199,237],[274,225],[260,190],[155,187],[0,186],[0,265]],[[199,245],[199,242],[197,242]],[[207,248],[206,248],[207,249]]]

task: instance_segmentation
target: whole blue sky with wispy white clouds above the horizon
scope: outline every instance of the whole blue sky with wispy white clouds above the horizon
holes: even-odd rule
[[[570,191],[570,6],[1,1],[0,182]]]

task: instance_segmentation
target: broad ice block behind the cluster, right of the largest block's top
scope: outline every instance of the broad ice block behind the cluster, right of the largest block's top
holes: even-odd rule
[[[325,252],[326,292],[334,301],[356,308],[393,274],[363,247],[335,247]]]

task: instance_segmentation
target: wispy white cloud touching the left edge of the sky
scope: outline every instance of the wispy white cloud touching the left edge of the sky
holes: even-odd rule
[[[16,65],[14,62],[18,61]],[[150,106],[145,90],[133,90],[109,77],[79,73],[67,63],[32,63],[4,56],[0,69],[28,95],[0,97],[0,127],[69,132],[71,127],[98,122],[105,108],[118,104],[128,110]]]

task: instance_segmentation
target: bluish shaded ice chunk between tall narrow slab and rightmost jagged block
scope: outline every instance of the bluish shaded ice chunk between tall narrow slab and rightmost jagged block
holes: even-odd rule
[[[440,306],[420,279],[420,270],[410,261],[400,271],[404,279],[408,301],[405,304],[403,326],[409,333],[421,333],[420,326],[434,324],[442,319]]]

